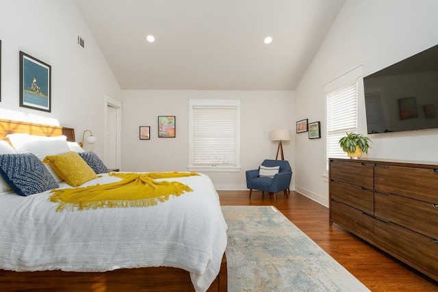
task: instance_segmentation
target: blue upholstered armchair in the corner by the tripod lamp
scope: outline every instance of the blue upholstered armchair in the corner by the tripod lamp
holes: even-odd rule
[[[246,187],[249,189],[249,198],[253,189],[258,189],[264,194],[268,191],[270,194],[274,194],[274,202],[276,202],[275,194],[279,191],[283,191],[286,197],[289,196],[289,186],[292,179],[292,168],[287,160],[264,160],[261,165],[267,167],[280,166],[278,174],[275,174],[273,178],[260,177],[259,170],[247,170],[246,171]]]

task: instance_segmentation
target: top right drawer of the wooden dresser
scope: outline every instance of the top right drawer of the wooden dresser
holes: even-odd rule
[[[438,170],[376,164],[374,189],[438,204]]]

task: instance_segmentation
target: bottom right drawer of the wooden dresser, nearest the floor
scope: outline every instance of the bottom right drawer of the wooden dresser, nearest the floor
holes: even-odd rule
[[[434,239],[396,224],[374,222],[374,241],[398,254],[409,264],[438,276],[438,244]]]

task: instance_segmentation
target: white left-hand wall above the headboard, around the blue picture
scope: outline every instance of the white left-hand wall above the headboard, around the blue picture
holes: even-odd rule
[[[75,2],[0,0],[0,40],[0,118],[73,127],[78,142],[91,129],[97,142],[86,149],[103,157],[104,94],[122,94]],[[19,51],[51,65],[51,113],[19,107]]]

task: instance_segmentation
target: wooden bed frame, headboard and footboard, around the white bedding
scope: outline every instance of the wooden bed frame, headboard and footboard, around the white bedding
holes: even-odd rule
[[[75,142],[75,129],[0,119],[0,140],[10,133],[66,135]],[[227,258],[207,291],[227,291]],[[194,291],[190,274],[173,267],[116,269],[103,273],[67,271],[5,271],[0,269],[0,291]]]

